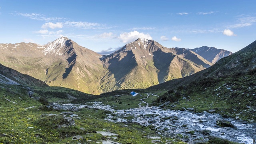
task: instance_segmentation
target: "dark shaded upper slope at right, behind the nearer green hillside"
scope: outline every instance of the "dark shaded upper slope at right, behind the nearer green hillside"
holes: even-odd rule
[[[222,77],[225,75],[240,74],[253,70],[256,67],[256,41],[252,42],[242,50],[224,57],[210,68],[197,72],[186,78],[170,80],[168,82],[152,86],[151,88],[172,89],[189,84],[194,80],[208,77]]]

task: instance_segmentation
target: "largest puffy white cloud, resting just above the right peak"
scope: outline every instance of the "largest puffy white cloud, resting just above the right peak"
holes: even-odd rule
[[[152,40],[152,37],[150,36],[150,34],[144,34],[144,33],[140,33],[136,30],[134,30],[133,32],[124,32],[122,34],[120,34],[120,36],[118,37],[123,43],[128,43],[128,42],[132,42],[138,38],[146,38],[149,40]]]

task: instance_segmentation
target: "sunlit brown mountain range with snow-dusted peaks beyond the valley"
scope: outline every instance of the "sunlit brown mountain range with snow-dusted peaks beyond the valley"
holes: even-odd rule
[[[0,44],[0,64],[22,74],[62,86],[99,94],[118,89],[148,88],[189,76],[232,52],[214,47],[166,48],[138,38],[110,55],[100,55],[62,37],[45,45]]]

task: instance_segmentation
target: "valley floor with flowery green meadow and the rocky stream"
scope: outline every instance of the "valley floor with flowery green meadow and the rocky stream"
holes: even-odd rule
[[[133,97],[126,90],[74,101],[83,104],[42,105],[25,95],[22,86],[0,88],[0,143],[4,144],[249,144],[256,135],[255,126],[245,121],[149,106],[162,91],[155,95],[138,90]],[[216,120],[231,121],[236,128],[220,128]]]

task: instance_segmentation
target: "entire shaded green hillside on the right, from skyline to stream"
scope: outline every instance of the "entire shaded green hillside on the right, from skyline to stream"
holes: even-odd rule
[[[170,101],[172,109],[215,110],[223,116],[256,120],[256,42],[192,76],[148,88],[166,89],[154,105]],[[185,99],[185,98],[186,99]],[[184,98],[184,99],[183,99]]]

